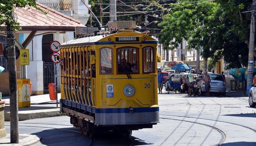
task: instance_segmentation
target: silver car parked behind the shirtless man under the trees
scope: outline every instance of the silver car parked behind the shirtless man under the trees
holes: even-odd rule
[[[226,95],[226,82],[224,78],[221,76],[219,73],[209,73],[208,74],[211,78],[211,88],[210,92],[215,92],[219,93],[222,96]],[[198,78],[203,79],[204,75],[200,75]],[[204,81],[199,80],[197,82],[197,85],[199,86],[199,95],[203,95],[204,92],[206,92],[205,87],[204,87]]]

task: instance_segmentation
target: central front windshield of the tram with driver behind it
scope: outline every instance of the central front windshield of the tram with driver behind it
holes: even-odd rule
[[[118,49],[118,73],[139,73],[139,49],[134,47],[122,47]]]

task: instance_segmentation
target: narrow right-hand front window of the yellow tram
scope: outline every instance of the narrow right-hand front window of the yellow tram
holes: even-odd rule
[[[154,64],[154,48],[143,48],[143,73],[153,73],[155,69]]]

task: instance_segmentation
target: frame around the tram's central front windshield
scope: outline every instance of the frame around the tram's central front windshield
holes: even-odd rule
[[[137,58],[137,72],[135,73],[135,72],[128,72],[129,74],[140,74],[140,49],[138,48],[138,47],[132,47],[132,46],[125,46],[125,47],[120,47],[120,48],[117,48],[116,49],[116,73],[117,74],[125,74],[125,72],[124,73],[119,73],[118,72],[118,65],[119,65],[119,62],[118,62],[118,51],[119,50],[122,50],[122,49],[125,49],[125,48],[129,48],[129,49],[136,49],[136,55],[135,55],[135,57]],[[133,53],[134,54],[134,53]],[[121,63],[121,59],[123,59],[123,58],[119,58],[120,59],[120,63]],[[126,59],[126,58],[125,58]],[[127,60],[127,59],[126,59]],[[127,62],[128,62],[128,60],[127,60]],[[135,63],[136,63],[136,59],[135,59]]]

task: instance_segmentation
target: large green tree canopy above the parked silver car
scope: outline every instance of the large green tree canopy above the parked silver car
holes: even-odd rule
[[[249,0],[179,0],[158,24],[163,28],[159,42],[172,50],[184,38],[187,49],[201,49],[201,55],[213,62],[223,58],[226,69],[247,66],[251,17],[242,12],[250,4]]]

